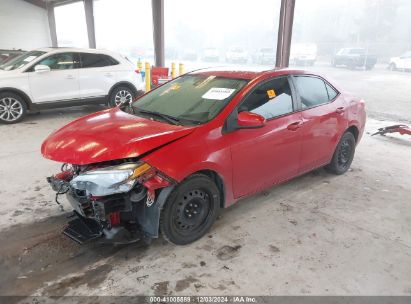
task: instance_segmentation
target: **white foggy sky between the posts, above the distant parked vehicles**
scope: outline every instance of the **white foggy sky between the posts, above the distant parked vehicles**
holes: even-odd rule
[[[94,6],[98,48],[153,61],[150,0],[97,0]],[[205,49],[216,48],[224,62],[230,47],[241,47],[253,64],[261,48],[276,49],[279,10],[280,0],[166,0],[166,60],[201,61]],[[57,7],[55,14],[59,46],[87,47],[83,3]],[[359,46],[388,62],[411,49],[410,16],[408,0],[297,0],[292,43],[316,44],[320,61]]]

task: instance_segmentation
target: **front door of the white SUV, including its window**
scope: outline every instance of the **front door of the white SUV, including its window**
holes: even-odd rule
[[[78,55],[58,53],[48,56],[36,65],[46,65],[50,71],[29,71],[29,84],[35,103],[60,102],[78,99],[80,96]]]

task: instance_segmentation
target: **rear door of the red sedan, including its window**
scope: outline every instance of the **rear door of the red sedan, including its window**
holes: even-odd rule
[[[300,170],[307,172],[330,162],[346,128],[345,102],[320,77],[293,76],[293,82],[303,120]]]

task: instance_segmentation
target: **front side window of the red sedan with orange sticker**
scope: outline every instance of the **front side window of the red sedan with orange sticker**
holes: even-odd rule
[[[287,77],[269,80],[246,97],[239,112],[248,111],[260,114],[266,119],[291,113],[293,100]]]

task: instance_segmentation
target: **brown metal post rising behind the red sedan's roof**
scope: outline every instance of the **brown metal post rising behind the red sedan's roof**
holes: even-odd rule
[[[288,67],[290,61],[291,36],[293,32],[295,0],[281,0],[278,25],[276,68]]]

